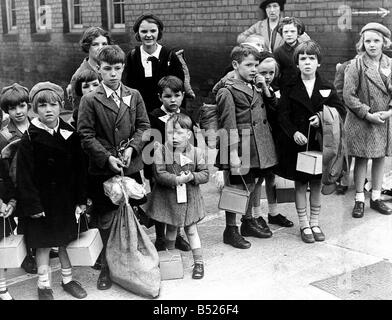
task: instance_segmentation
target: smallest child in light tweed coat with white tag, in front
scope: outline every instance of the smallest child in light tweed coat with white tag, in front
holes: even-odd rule
[[[174,249],[177,228],[184,226],[194,267],[193,279],[204,276],[197,223],[206,215],[199,184],[208,182],[208,168],[201,149],[192,146],[192,120],[176,113],[167,121],[167,142],[154,153],[155,184],[147,208],[154,220],[166,223],[166,248]]]

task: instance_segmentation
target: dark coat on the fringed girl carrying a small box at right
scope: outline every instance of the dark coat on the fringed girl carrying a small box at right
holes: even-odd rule
[[[320,92],[320,90],[326,91]],[[300,74],[287,86],[281,88],[280,92],[278,122],[281,131],[277,132],[279,165],[276,173],[286,179],[295,181],[305,182],[315,178],[321,179],[321,175],[314,176],[296,170],[298,152],[306,151],[306,145],[300,146],[296,144],[294,133],[299,131],[307,137],[309,118],[318,112],[322,112],[324,105],[336,108],[339,114],[344,116],[345,108],[343,103],[339,99],[333,85],[325,82],[319,74],[316,74],[316,82],[311,98],[309,98]],[[321,151],[320,143],[316,140],[316,132],[320,132],[320,130],[312,127],[308,150]]]

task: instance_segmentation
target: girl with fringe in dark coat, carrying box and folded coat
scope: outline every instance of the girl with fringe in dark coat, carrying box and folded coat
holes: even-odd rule
[[[321,151],[316,141],[323,106],[336,108],[344,114],[344,106],[333,85],[317,73],[321,50],[314,41],[301,43],[294,51],[294,61],[300,71],[287,86],[281,88],[278,121],[279,175],[295,181],[295,205],[299,217],[301,238],[304,242],[324,241],[319,226],[321,209],[321,175],[310,175],[296,170],[298,152]],[[308,132],[310,130],[309,139]],[[310,185],[310,221],[306,209],[306,190]]]

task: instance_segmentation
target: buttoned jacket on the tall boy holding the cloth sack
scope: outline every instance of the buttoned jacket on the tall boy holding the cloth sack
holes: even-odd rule
[[[123,84],[121,97],[119,108],[112,98],[106,96],[101,84],[95,92],[84,95],[80,101],[78,131],[82,148],[89,157],[91,175],[113,176],[108,159],[110,156],[118,157],[117,148],[120,142],[127,139],[131,139],[133,153],[131,164],[124,169],[124,174],[129,175],[143,168],[141,151],[149,140],[145,131],[150,128],[146,108],[140,93]],[[127,99],[129,105],[124,102]]]

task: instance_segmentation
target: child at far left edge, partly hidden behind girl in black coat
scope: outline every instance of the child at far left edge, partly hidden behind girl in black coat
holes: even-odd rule
[[[1,90],[0,108],[9,116],[8,124],[0,131],[0,150],[3,150],[9,143],[22,138],[23,133],[30,125],[28,112],[29,90],[18,83],[14,83]],[[12,181],[15,182],[16,169],[16,148],[10,148],[12,152],[2,154],[4,159],[5,173],[11,173]],[[18,232],[23,233],[23,218],[18,220]],[[31,274],[37,273],[33,250],[28,248],[27,256],[22,263],[22,268]]]

